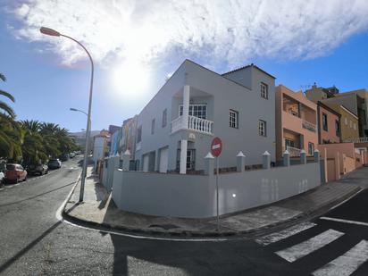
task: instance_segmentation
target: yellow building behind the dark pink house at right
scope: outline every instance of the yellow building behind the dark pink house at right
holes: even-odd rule
[[[341,114],[341,139],[347,140],[349,138],[359,138],[359,124],[358,117],[349,111],[344,105],[333,105],[322,101],[324,105],[328,105],[337,113]]]

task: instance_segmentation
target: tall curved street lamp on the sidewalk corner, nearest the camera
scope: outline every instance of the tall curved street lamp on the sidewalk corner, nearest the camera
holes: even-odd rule
[[[58,32],[57,30],[46,28],[46,27],[41,27],[39,29],[39,31],[42,34],[47,35],[47,36],[64,37],[64,38],[71,39],[72,41],[76,42],[79,46],[81,46],[83,48],[83,50],[86,51],[86,53],[88,54],[89,61],[91,62],[91,80],[90,80],[90,86],[89,86],[89,102],[88,102],[88,114],[87,114],[88,119],[87,119],[87,130],[86,130],[86,146],[85,146],[85,151],[84,151],[83,170],[82,170],[82,177],[81,177],[81,181],[80,181],[80,193],[79,193],[79,202],[81,202],[81,201],[83,201],[83,196],[84,196],[84,186],[85,186],[86,174],[87,174],[88,141],[89,141],[90,132],[91,132],[91,120],[90,119],[91,119],[93,74],[94,74],[93,60],[92,60],[91,55],[88,53],[88,50],[86,49],[86,47],[83,46],[76,39],[71,38],[71,37],[68,37],[66,35],[63,35],[60,32]]]

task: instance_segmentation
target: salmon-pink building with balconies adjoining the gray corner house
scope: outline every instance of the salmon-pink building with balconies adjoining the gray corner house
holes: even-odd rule
[[[302,91],[294,92],[280,85],[276,88],[276,159],[288,149],[290,156],[314,155],[318,144],[317,105]]]

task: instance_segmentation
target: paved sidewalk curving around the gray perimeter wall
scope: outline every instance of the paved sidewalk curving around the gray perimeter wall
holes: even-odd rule
[[[105,187],[98,183],[96,175],[91,173],[92,168],[88,167],[84,202],[78,203],[79,181],[64,207],[63,216],[66,219],[139,235],[187,238],[255,234],[297,219],[318,215],[355,195],[361,187],[365,187],[368,178],[368,168],[362,168],[351,172],[343,180],[323,184],[296,197],[222,216],[220,232],[217,232],[215,218],[181,219],[121,211],[113,203],[111,194],[106,192]]]

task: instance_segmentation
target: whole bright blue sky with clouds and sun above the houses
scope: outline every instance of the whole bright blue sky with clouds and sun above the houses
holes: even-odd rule
[[[368,88],[366,0],[0,0],[0,88],[17,119],[92,129],[139,113],[185,59],[223,73],[255,63],[293,90]],[[2,98],[2,100],[4,100]],[[6,100],[4,100],[6,101]]]

